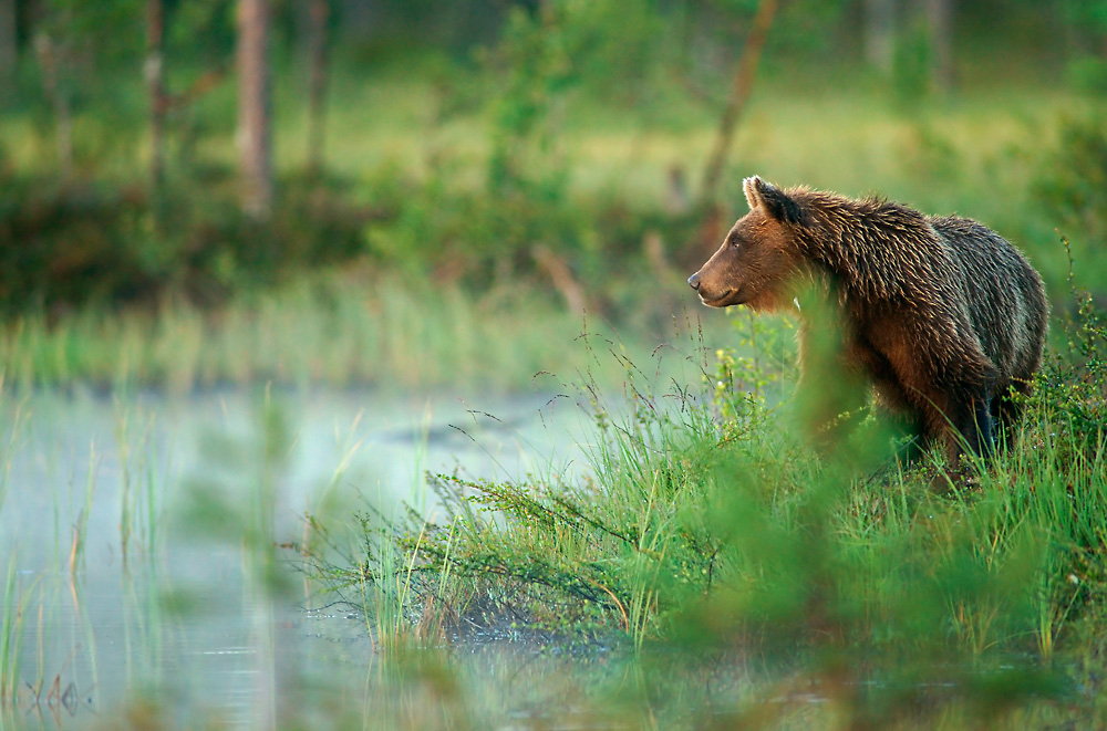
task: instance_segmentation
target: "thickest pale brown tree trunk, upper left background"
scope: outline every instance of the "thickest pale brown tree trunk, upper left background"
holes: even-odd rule
[[[242,208],[259,219],[269,218],[273,198],[268,46],[268,0],[239,0],[238,146]]]

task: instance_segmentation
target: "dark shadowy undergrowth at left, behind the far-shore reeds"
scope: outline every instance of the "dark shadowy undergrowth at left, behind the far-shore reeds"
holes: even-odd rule
[[[360,255],[363,216],[334,191],[294,185],[259,223],[199,189],[158,203],[136,187],[11,180],[0,231],[19,246],[0,248],[0,309],[54,312],[170,294],[220,302],[234,289]]]

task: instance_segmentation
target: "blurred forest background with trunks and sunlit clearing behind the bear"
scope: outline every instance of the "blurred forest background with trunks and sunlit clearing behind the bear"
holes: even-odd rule
[[[304,280],[656,331],[753,174],[981,219],[1061,297],[1105,95],[1107,0],[0,0],[6,343]]]

